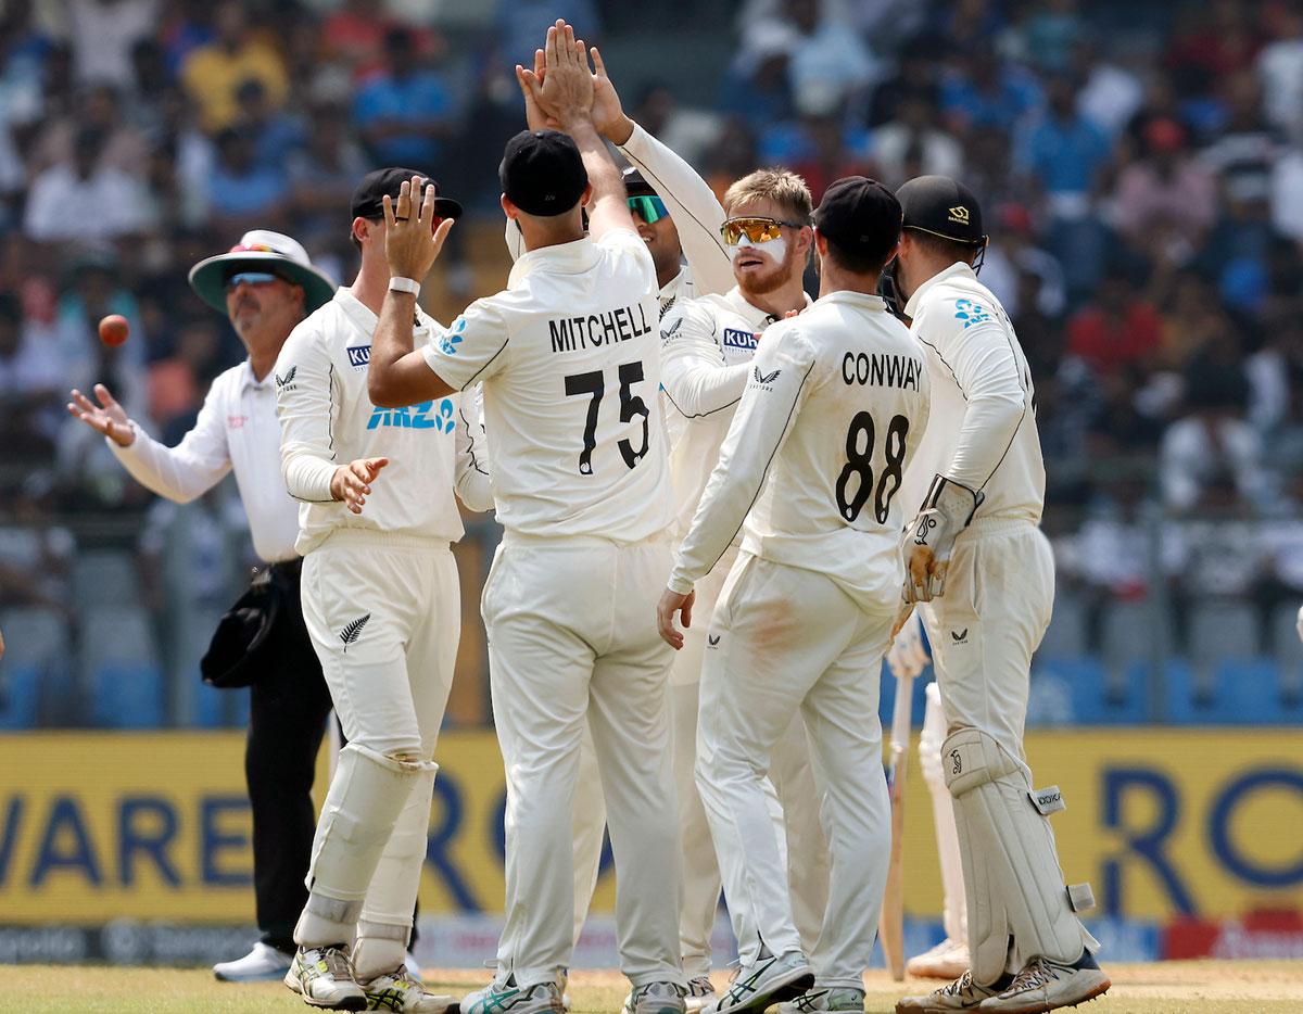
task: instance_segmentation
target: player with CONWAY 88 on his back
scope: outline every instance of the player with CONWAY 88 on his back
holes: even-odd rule
[[[890,803],[878,673],[902,576],[896,493],[928,418],[923,352],[876,295],[900,206],[861,176],[814,215],[820,298],[771,326],[679,550],[658,622],[684,644],[693,587],[744,529],[708,633],[697,785],[741,967],[708,1011],[863,1010],[886,885]],[[761,778],[800,714],[831,852],[809,954],[792,918]]]

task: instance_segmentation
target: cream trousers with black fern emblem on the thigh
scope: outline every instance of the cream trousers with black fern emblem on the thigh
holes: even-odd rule
[[[304,559],[302,602],[349,743],[433,759],[461,632],[461,592],[448,543],[335,532]],[[365,811],[367,800],[344,800],[344,789],[332,777],[323,817],[340,805]],[[403,805],[362,905],[360,925],[395,928],[394,940],[397,928],[410,932],[430,802],[422,791]],[[318,824],[309,884],[318,884],[324,825]],[[328,884],[318,886],[330,894]],[[399,959],[403,949],[405,940],[397,944]]]

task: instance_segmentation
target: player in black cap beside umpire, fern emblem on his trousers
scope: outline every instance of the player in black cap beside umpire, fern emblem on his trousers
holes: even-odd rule
[[[420,175],[377,169],[352,199],[362,263],[281,349],[275,382],[281,472],[301,502],[304,615],[348,746],[317,825],[298,953],[285,984],[311,1006],[434,1011],[403,964],[426,854],[434,749],[460,631],[453,502],[455,399],[377,408],[367,368],[386,292],[400,287],[409,328],[442,328],[416,305],[423,275],[387,255],[384,202]],[[442,244],[461,207],[434,198],[421,223]],[[472,468],[474,474],[478,474]]]

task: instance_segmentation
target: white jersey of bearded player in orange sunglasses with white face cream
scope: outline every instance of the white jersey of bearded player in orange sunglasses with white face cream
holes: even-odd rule
[[[809,305],[809,296],[805,297]],[[777,318],[734,287],[661,318],[662,377],[678,534],[688,530],[751,377],[758,336]]]

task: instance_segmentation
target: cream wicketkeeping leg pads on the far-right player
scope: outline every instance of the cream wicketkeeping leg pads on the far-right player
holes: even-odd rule
[[[1083,948],[1097,950],[1072,914],[1027,765],[981,729],[951,734],[941,760],[955,799],[973,980],[992,985],[1032,958],[1072,963]]]

